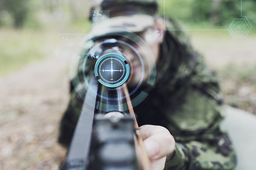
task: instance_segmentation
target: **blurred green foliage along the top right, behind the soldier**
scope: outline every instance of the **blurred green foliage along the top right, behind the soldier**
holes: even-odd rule
[[[241,4],[239,0],[164,0],[160,1],[160,12],[177,18],[186,26],[207,23],[208,28],[228,28],[234,18],[240,18]],[[250,23],[256,26],[256,1],[242,1],[242,16],[247,16]]]

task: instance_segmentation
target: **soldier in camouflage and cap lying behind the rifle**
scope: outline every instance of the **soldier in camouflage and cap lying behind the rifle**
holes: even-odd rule
[[[180,28],[178,23],[172,18],[164,22],[156,15],[156,0],[103,0],[95,8],[110,10],[111,26],[132,31],[147,43],[153,55],[144,54],[142,58],[153,58],[147,58],[146,67],[150,67],[150,61],[156,61],[155,85],[134,108],[153,169],[234,169],[233,145],[219,128],[223,98],[218,80],[203,57],[193,50],[186,34],[169,31]],[[164,36],[146,38],[147,33]],[[133,63],[132,86],[139,81],[142,68],[131,51],[123,52]],[[82,107],[73,85],[70,96],[59,136],[59,142],[66,146]]]

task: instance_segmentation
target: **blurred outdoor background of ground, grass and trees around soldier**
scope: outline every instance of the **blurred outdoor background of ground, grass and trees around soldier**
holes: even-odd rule
[[[90,31],[88,3],[0,0],[0,169],[58,169],[63,161],[56,140],[69,99],[67,50]],[[256,115],[256,0],[159,3],[218,73],[225,102]]]

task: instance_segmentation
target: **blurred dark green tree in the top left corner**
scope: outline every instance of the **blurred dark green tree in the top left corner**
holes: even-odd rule
[[[1,0],[0,10],[8,11],[14,20],[14,27],[21,28],[26,21],[29,9],[28,0]]]

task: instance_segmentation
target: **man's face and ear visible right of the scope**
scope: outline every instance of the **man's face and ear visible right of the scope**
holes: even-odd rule
[[[120,40],[129,43],[141,55],[129,47],[122,47],[124,57],[127,58],[130,65],[130,78],[128,81],[129,86],[137,86],[142,79],[146,81],[149,74],[159,59],[159,49],[161,44],[161,34],[155,27],[148,28],[142,33],[136,33],[139,36],[139,42],[129,40],[129,38],[121,38]]]

